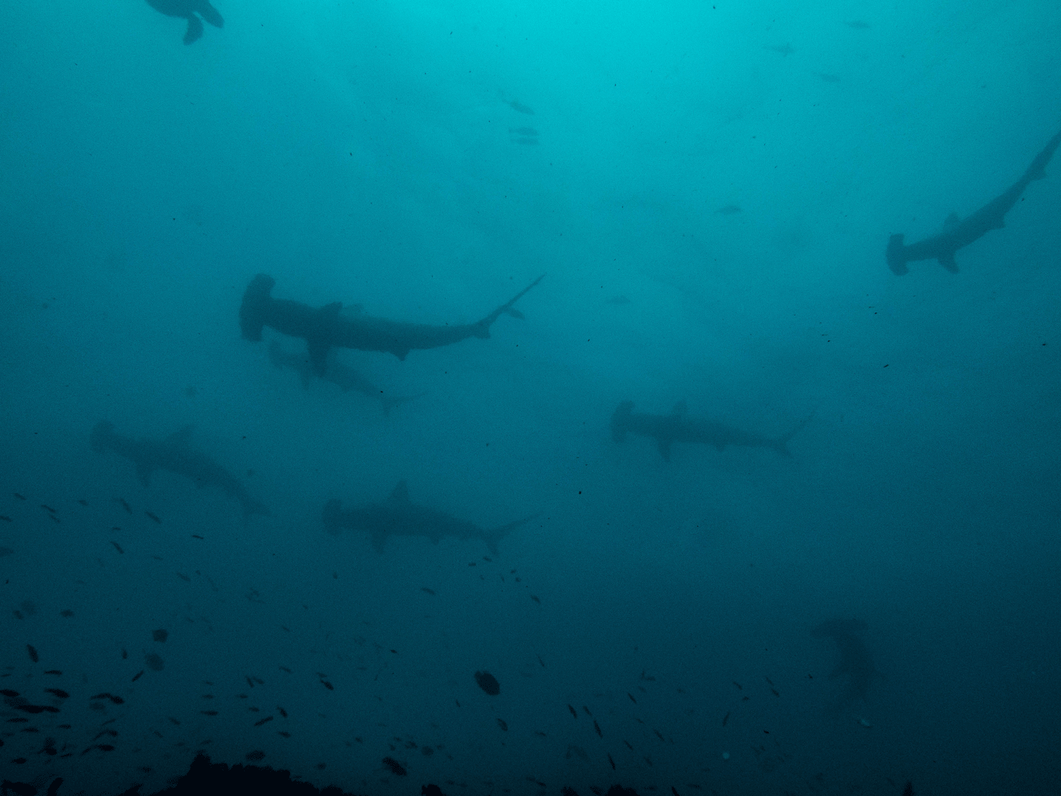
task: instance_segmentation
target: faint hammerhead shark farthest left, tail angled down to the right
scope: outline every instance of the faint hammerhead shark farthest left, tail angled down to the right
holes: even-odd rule
[[[214,462],[205,453],[188,447],[191,427],[182,429],[161,442],[133,439],[115,433],[112,423],[101,420],[92,429],[92,450],[98,453],[112,450],[136,465],[137,475],[144,486],[151,485],[151,474],[155,470],[168,470],[185,475],[196,486],[216,486],[229,498],[236,498],[243,506],[243,517],[268,515],[268,509],[250,497],[239,479]]]

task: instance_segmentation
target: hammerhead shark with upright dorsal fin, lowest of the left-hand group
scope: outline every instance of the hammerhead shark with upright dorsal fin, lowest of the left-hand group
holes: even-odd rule
[[[535,514],[487,531],[445,512],[416,505],[408,499],[408,486],[404,481],[399,481],[390,497],[383,503],[369,503],[344,512],[338,500],[329,500],[325,505],[324,522],[332,534],[337,534],[344,527],[367,531],[377,552],[383,550],[388,536],[425,536],[436,544],[441,539],[451,537],[482,539],[490,552],[497,555],[501,537],[537,516]]]

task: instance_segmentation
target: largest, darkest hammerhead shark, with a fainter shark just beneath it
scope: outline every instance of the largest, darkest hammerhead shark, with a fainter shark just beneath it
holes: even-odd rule
[[[244,340],[261,340],[263,326],[276,329],[281,334],[303,338],[313,369],[317,376],[324,376],[328,370],[328,349],[332,346],[356,348],[362,351],[385,351],[393,353],[399,360],[404,360],[414,348],[438,348],[459,343],[468,338],[489,338],[490,326],[503,313],[518,318],[523,317],[522,313],[512,309],[512,305],[544,277],[542,274],[511,299],[474,324],[430,326],[387,321],[365,314],[341,316],[343,310],[341,301],[313,308],[290,299],[273,298],[269,294],[276,280],[265,274],[259,274],[243,293],[240,328]]]

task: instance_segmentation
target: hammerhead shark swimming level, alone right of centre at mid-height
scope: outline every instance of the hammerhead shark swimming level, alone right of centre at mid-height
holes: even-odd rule
[[[770,438],[749,434],[720,422],[691,418],[685,401],[678,401],[674,404],[669,415],[649,415],[645,412],[634,412],[633,401],[623,401],[611,416],[611,438],[616,443],[622,443],[626,439],[627,433],[655,437],[660,453],[668,462],[671,461],[671,445],[674,443],[713,445],[718,450],[724,450],[727,445],[738,445],[744,448],[770,448],[782,456],[790,456],[788,440],[803,428],[805,422],[804,420],[787,434]]]

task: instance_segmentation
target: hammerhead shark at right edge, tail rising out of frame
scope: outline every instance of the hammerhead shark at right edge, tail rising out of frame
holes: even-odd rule
[[[891,236],[885,252],[888,267],[898,276],[902,276],[909,272],[909,269],[906,267],[907,262],[936,259],[952,274],[957,274],[958,263],[954,260],[954,253],[984,237],[992,229],[1002,229],[1006,226],[1006,213],[1021,198],[1021,194],[1024,193],[1028,184],[1046,176],[1046,163],[1054,156],[1058,144],[1061,144],[1061,132],[1047,142],[1042,152],[1036,155],[1036,159],[1024,172],[1024,176],[1010,186],[1005,193],[995,196],[967,219],[959,220],[957,215],[952,213],[944,222],[943,231],[939,235],[909,245],[903,243],[902,233]]]

